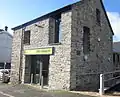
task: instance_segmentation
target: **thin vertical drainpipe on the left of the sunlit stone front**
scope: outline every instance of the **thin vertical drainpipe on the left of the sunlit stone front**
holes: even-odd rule
[[[23,61],[23,35],[24,35],[25,27],[22,25],[22,35],[21,35],[21,49],[20,49],[20,66],[19,66],[19,84],[22,83],[22,61]]]

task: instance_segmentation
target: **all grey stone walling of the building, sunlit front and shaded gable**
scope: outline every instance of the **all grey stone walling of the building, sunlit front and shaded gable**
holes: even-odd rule
[[[101,11],[101,26],[96,23],[96,8]],[[26,49],[55,47],[49,60],[49,89],[98,89],[99,73],[112,71],[112,32],[100,0],[82,0],[61,14],[61,43],[49,44],[54,35],[54,19],[48,18],[25,27],[31,31]],[[41,27],[36,27],[38,24]],[[83,53],[83,26],[90,28],[90,53]],[[51,33],[50,33],[51,32]],[[13,36],[11,82],[18,83],[22,29]],[[98,41],[100,39],[100,41]],[[77,54],[79,52],[79,54]],[[22,54],[22,83],[30,79],[29,63]],[[28,73],[27,73],[28,72]],[[26,75],[27,73],[28,75]],[[87,74],[87,75],[84,75]],[[91,75],[92,74],[92,75]]]

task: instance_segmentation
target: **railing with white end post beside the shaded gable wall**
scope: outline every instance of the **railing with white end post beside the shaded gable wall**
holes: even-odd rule
[[[104,94],[107,87],[112,87],[120,83],[118,79],[120,79],[120,70],[100,74],[100,95]]]

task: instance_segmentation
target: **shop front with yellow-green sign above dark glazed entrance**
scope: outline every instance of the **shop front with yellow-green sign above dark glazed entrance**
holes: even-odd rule
[[[53,48],[25,50],[24,83],[48,85],[49,58]]]

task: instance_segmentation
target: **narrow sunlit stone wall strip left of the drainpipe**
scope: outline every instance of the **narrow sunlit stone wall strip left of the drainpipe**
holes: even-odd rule
[[[19,83],[19,67],[20,67],[20,49],[22,30],[19,29],[14,32],[12,43],[12,58],[11,58],[11,82],[13,84]]]

